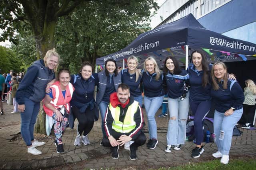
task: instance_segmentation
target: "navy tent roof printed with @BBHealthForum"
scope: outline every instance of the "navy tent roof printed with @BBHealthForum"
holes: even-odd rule
[[[160,58],[158,59],[159,61],[164,60],[167,55],[184,58],[184,45],[188,45],[191,49],[203,47],[210,49],[212,53],[214,51],[227,51],[248,56],[256,55],[256,44],[232,39],[220,33],[210,31],[203,27],[192,14],[189,14],[180,20],[160,25],[155,29],[140,34],[124,49],[96,59],[96,64],[102,65],[109,58],[120,61],[128,58],[130,55],[140,58],[155,56]],[[210,60],[218,60],[219,56],[208,57]],[[161,59],[161,57],[163,58]],[[242,61],[240,57],[234,58],[238,58],[235,61]],[[256,57],[247,58],[256,59]]]

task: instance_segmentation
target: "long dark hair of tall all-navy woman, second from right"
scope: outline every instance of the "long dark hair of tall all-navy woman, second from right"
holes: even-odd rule
[[[192,63],[193,63],[193,54],[194,53],[199,53],[202,56],[202,69],[204,71],[203,77],[202,77],[202,86],[206,87],[206,85],[209,83],[209,67],[208,67],[208,62],[206,59],[206,55],[204,54],[203,51],[200,50],[195,50],[191,53],[191,58],[192,58]],[[194,63],[193,63],[194,64]]]

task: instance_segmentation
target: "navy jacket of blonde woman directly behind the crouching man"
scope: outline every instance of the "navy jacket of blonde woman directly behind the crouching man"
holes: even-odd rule
[[[140,82],[141,82],[142,76],[139,76],[137,82],[135,82],[136,74],[130,74],[128,72],[128,69],[123,69],[121,73],[122,73],[122,83],[125,83],[130,87],[131,96],[133,97],[141,96]]]

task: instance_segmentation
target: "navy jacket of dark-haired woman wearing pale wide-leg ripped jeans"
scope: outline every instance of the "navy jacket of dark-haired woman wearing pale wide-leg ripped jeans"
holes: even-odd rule
[[[170,72],[165,75],[166,86],[168,90],[168,97],[172,99],[182,96],[183,89],[185,88],[185,80],[189,79],[188,72],[182,70],[180,74],[171,74]]]

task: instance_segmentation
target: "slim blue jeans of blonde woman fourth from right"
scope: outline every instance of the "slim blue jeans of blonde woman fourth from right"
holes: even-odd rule
[[[163,100],[164,96],[154,98],[147,98],[146,96],[144,96],[144,106],[146,109],[146,114],[148,116],[148,132],[150,139],[157,139],[155,115],[160,106],[162,105]]]

